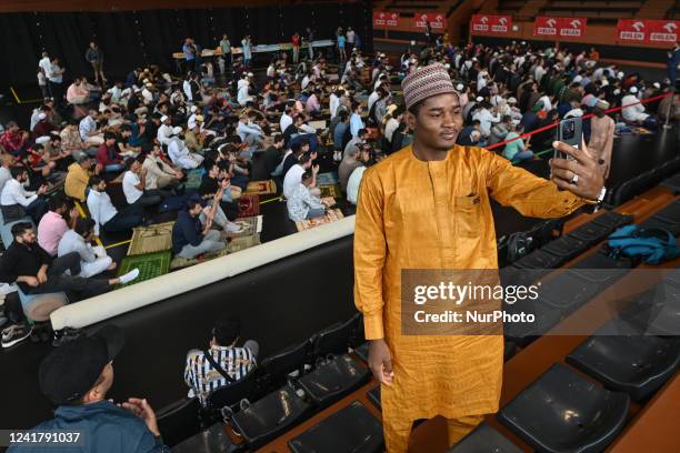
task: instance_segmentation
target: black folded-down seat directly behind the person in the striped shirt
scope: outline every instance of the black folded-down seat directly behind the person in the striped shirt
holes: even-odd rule
[[[310,412],[311,406],[286,385],[237,413],[222,411],[222,415],[249,449],[257,449],[302,422]]]

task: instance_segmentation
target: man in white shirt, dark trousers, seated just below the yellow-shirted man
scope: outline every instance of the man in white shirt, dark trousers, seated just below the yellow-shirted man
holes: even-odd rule
[[[129,232],[134,226],[144,223],[143,208],[129,205],[124,210],[118,210],[111,203],[111,198],[106,192],[107,183],[99,177],[90,177],[90,193],[88,193],[88,211],[94,220],[94,234],[100,230],[108,233]]]

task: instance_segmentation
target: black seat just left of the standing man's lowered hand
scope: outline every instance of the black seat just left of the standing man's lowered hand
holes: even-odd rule
[[[318,406],[327,406],[353,392],[371,379],[370,370],[349,354],[320,362],[297,383]]]

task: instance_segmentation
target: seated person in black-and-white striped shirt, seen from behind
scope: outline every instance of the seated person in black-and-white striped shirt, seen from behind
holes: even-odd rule
[[[206,351],[191,350],[187,354],[184,368],[184,382],[189,385],[189,396],[198,396],[201,404],[208,404],[211,392],[230,385],[226,373],[232,382],[238,381],[256,368],[256,360],[260,346],[253,340],[248,340],[242,348],[237,348],[241,323],[233,318],[222,318],[212,328],[210,348]],[[209,353],[213,362],[222,370],[216,369],[206,354]]]

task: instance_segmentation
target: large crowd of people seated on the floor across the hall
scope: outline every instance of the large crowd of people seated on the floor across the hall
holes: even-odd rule
[[[454,47],[440,40],[408,49],[398,61],[384,53],[363,56],[358,48],[346,56],[334,71],[321,52],[293,64],[281,52],[263,78],[238,64],[219,77],[202,77],[201,67],[179,79],[156,66],[137,68],[101,92],[76,78],[63,98],[48,98],[31,113],[28,130],[4,125],[3,220],[30,219],[49,255],[59,251],[56,238],[69,232],[71,248],[64,251],[74,253],[78,245],[78,266],[96,262],[108,272],[113,263],[104,266],[106,253],[88,246],[92,238],[152,224],[160,207],[170,205],[177,211],[173,253],[200,260],[223,250],[238,230],[238,200],[253,179],[256,159],[262,161],[260,179],[277,182],[291,221],[322,217],[328,205],[317,182],[320,162],[327,170],[330,162],[354,204],[366,168],[412,140],[394,83],[437,61],[447,66],[460,93],[459,144],[501,143],[497,151],[517,162],[538,159],[537,151],[552,141],[552,131],[530,139],[523,133],[594,113],[584,133],[609,169],[616,130],[653,129],[669,111],[677,118],[680,105],[678,97],[636,104],[671,91],[670,81],[626,74],[560,47]],[[628,107],[612,114],[617,120],[604,113],[622,104]],[[200,187],[187,190],[192,172],[199,172]],[[66,204],[50,203],[54,195],[66,195]],[[91,222],[72,219],[71,201]],[[46,215],[50,221],[40,228]],[[59,215],[70,217],[68,230],[56,221]],[[84,245],[76,244],[81,240]]]

